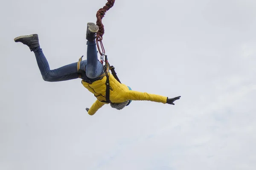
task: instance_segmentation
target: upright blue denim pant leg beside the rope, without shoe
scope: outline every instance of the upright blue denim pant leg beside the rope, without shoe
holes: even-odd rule
[[[85,67],[86,76],[95,79],[104,73],[102,63],[98,59],[96,41],[87,41],[87,65]]]

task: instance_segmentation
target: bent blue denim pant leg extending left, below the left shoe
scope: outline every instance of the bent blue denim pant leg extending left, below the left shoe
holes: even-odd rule
[[[36,61],[43,79],[47,82],[59,82],[70,79],[77,79],[77,62],[65,65],[61,68],[50,70],[46,57],[40,47],[34,50]]]

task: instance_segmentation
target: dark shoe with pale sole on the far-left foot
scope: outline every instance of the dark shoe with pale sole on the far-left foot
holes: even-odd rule
[[[15,42],[22,42],[23,44],[29,46],[30,51],[33,51],[35,48],[40,47],[38,34],[31,34],[31,35],[23,35],[20,37],[16,37],[14,39]]]

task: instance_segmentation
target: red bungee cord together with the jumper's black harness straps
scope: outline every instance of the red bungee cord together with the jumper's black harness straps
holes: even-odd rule
[[[102,75],[100,75],[98,78],[102,79],[104,76],[106,76],[106,101],[101,101],[101,102],[105,102],[105,103],[110,103],[110,82],[109,82],[109,71],[111,70],[111,73],[113,75],[113,77],[119,82],[119,78],[116,75],[116,71],[115,71],[115,67],[112,65],[109,65],[108,62],[108,56],[105,55],[105,48],[104,45],[102,43],[103,40],[103,35],[105,33],[104,30],[104,25],[102,24],[102,18],[105,16],[105,13],[113,7],[115,3],[115,0],[108,0],[108,2],[106,3],[106,5],[103,8],[100,8],[97,11],[96,17],[97,17],[97,21],[96,21],[96,25],[99,26],[99,31],[97,32],[96,35],[96,44],[97,44],[97,48],[100,54],[100,62],[103,63],[105,62],[105,65],[103,65],[104,67],[104,73]],[[82,56],[83,57],[83,56]],[[81,69],[81,61],[82,61],[82,57],[79,59],[79,62],[77,62],[77,72],[80,74],[79,78],[82,78],[86,81],[86,82],[90,82],[90,80],[87,78],[86,73],[85,73],[85,69]],[[105,58],[104,58],[105,57]]]

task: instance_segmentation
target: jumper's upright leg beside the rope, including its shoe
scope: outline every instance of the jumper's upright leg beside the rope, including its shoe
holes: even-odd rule
[[[96,48],[96,32],[99,27],[94,23],[87,23],[87,65],[85,67],[86,76],[95,79],[104,73],[102,63],[98,60]]]

